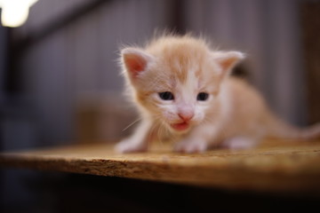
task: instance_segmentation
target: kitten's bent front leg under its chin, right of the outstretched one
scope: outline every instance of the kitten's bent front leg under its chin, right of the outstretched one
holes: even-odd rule
[[[212,126],[201,126],[192,130],[186,138],[180,140],[174,146],[174,151],[182,153],[203,153],[209,147],[209,143],[217,135],[217,129]]]

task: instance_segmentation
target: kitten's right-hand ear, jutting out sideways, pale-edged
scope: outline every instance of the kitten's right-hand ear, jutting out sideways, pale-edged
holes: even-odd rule
[[[213,53],[213,59],[222,69],[222,75],[228,75],[236,64],[244,59],[244,53],[240,51],[220,51]]]

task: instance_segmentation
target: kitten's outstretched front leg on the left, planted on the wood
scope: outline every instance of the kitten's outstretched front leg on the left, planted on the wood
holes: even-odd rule
[[[131,137],[123,139],[116,145],[116,152],[134,153],[147,151],[148,141],[152,138],[150,132],[151,126],[152,122],[142,120]]]

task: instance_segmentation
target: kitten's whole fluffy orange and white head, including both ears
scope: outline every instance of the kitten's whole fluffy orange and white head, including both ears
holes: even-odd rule
[[[167,36],[145,49],[121,51],[132,96],[148,115],[174,132],[204,122],[219,105],[220,84],[244,54],[211,51],[201,39]]]

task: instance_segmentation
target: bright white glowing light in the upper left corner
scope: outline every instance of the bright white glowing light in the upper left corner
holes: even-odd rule
[[[28,19],[29,8],[38,0],[0,0],[1,22],[4,27],[17,28]]]

